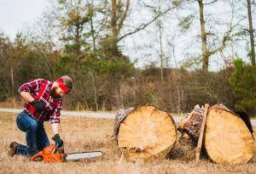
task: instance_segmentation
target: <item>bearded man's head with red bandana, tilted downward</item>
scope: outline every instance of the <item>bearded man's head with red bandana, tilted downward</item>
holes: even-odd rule
[[[73,89],[73,81],[69,76],[61,76],[58,78],[50,92],[52,98],[60,97],[69,93]]]

